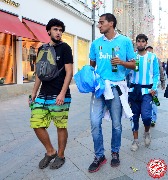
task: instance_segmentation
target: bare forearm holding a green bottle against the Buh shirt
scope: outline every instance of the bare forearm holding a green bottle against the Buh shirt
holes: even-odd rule
[[[122,61],[120,58],[118,57],[114,57],[112,60],[111,60],[111,64],[112,65],[122,65],[124,66],[125,68],[127,69],[135,69],[135,60],[131,60],[129,62],[125,62],[125,61]]]

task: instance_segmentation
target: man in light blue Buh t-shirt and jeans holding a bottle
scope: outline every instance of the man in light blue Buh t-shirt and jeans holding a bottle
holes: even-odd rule
[[[98,171],[100,166],[107,161],[104,155],[101,127],[105,106],[107,106],[112,120],[111,166],[116,167],[120,164],[122,105],[118,86],[115,84],[125,81],[126,68],[134,69],[135,61],[133,60],[134,51],[132,42],[128,37],[115,32],[116,24],[117,20],[113,14],[106,13],[101,15],[98,27],[100,33],[104,35],[93,41],[90,48],[90,65],[96,68],[96,72],[101,78],[110,82],[110,91],[113,93],[114,98],[106,100],[103,95],[100,98],[95,98],[94,93],[92,95],[90,119],[95,159],[89,166],[89,172]],[[112,49],[114,49],[116,54],[113,58]],[[113,66],[117,66],[117,72],[112,71]]]

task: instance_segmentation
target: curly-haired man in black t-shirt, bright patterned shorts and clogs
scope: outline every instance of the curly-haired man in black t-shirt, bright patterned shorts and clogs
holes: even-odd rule
[[[50,161],[54,159],[50,168],[58,169],[65,163],[64,151],[68,138],[67,122],[71,102],[69,84],[73,75],[73,57],[70,46],[61,41],[62,33],[65,31],[64,23],[58,19],[51,19],[46,26],[46,30],[51,38],[48,46],[53,46],[56,52],[54,59],[56,59],[59,69],[59,76],[50,81],[43,81],[37,76],[36,69],[35,84],[32,91],[32,101],[34,103],[30,124],[46,149],[45,157],[39,162],[39,168],[46,168]],[[39,48],[38,53],[42,49],[43,46]],[[38,58],[40,58],[39,56]],[[45,62],[50,57],[51,55],[47,54]],[[40,85],[40,92],[37,96]],[[58,151],[53,147],[47,132],[51,120],[57,127]]]

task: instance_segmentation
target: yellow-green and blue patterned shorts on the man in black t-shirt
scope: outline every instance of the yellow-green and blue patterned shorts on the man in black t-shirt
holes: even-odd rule
[[[53,120],[58,128],[67,128],[71,98],[65,98],[63,105],[56,105],[56,95],[39,94],[31,104],[31,128],[48,128]]]

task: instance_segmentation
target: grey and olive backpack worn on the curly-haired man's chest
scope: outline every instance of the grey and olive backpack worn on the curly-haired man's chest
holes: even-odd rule
[[[62,44],[62,43],[61,43]],[[59,70],[56,62],[56,51],[49,44],[42,45],[36,59],[36,74],[41,81],[50,81],[59,76]]]

